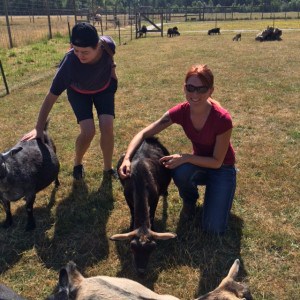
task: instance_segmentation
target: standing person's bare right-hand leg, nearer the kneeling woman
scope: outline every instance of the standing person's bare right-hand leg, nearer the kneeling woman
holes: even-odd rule
[[[99,128],[104,170],[108,171],[112,168],[112,156],[114,151],[114,117],[111,115],[100,115]]]

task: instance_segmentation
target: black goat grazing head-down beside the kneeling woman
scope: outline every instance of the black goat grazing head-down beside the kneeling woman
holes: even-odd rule
[[[171,181],[170,170],[159,159],[169,155],[156,138],[147,138],[131,160],[131,176],[121,180],[124,196],[131,213],[131,232],[115,234],[111,240],[130,239],[134,263],[138,273],[144,273],[150,254],[156,247],[155,240],[175,238],[176,234],[158,233],[153,230],[159,197],[167,194]],[[118,169],[123,161],[118,162]]]

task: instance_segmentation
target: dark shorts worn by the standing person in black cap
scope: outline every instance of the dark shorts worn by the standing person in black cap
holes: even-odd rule
[[[111,115],[115,117],[115,93],[117,88],[118,81],[114,78],[111,78],[107,89],[96,94],[81,94],[68,88],[68,100],[77,118],[77,122],[93,119],[93,104],[98,116]]]

